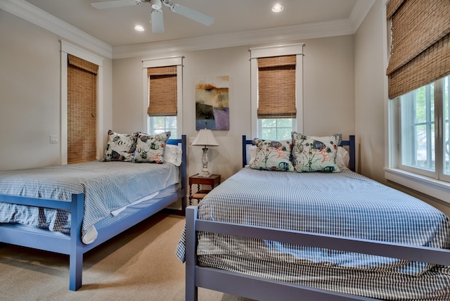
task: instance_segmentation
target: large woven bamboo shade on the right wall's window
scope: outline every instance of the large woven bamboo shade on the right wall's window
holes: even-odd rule
[[[389,98],[450,74],[450,1],[391,0]]]

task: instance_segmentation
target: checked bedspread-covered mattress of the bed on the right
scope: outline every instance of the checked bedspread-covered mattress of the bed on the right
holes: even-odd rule
[[[198,218],[449,248],[449,217],[349,171],[240,170],[198,205]],[[184,234],[176,255],[184,260]],[[198,233],[207,267],[385,300],[450,300],[450,268],[374,255]]]

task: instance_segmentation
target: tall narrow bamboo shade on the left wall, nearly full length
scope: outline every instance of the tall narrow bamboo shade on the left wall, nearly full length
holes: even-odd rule
[[[98,65],[68,54],[68,164],[96,160]]]

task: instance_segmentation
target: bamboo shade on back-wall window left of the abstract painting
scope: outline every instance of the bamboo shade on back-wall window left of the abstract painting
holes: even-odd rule
[[[149,116],[176,116],[176,66],[147,68],[150,77]]]

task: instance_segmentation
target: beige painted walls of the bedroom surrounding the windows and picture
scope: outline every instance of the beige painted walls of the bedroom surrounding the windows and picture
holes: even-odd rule
[[[387,183],[385,162],[385,16],[375,1],[354,35],[306,39],[304,46],[304,133],[356,134],[359,171],[421,198],[450,214],[450,205]],[[57,165],[60,144],[60,42],[56,34],[0,10],[0,170]],[[70,42],[70,41],[69,41]],[[195,79],[230,77],[230,130],[214,131],[210,170],[224,179],[240,169],[240,139],[250,135],[249,45],[171,53],[184,56],[183,129],[195,136]],[[89,50],[89,49],[88,49]],[[143,57],[148,58],[148,57]],[[103,128],[143,128],[143,58],[103,61]],[[105,133],[106,140],[106,133]],[[188,148],[188,174],[200,170],[201,150]]]

